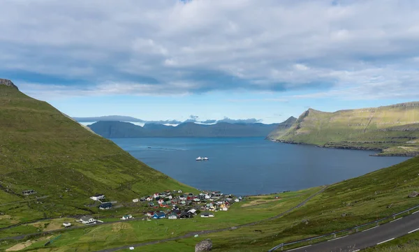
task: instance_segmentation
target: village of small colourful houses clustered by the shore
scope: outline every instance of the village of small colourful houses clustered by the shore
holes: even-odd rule
[[[91,200],[100,202],[98,209],[112,209],[112,202],[105,200],[105,195],[96,194],[90,197]],[[135,198],[133,203],[147,205],[149,211],[142,216],[143,221],[151,221],[152,218],[168,218],[171,220],[182,218],[194,218],[200,216],[202,218],[210,218],[215,216],[215,212],[228,211],[235,202],[242,201],[241,196],[223,195],[219,191],[201,191],[197,195],[193,193],[183,193],[181,190],[164,191],[154,193],[153,195],[145,195],[141,198]],[[122,216],[121,220],[134,218],[131,214]],[[96,224],[99,221],[92,216],[82,216],[76,220],[78,223],[85,225]],[[71,226],[71,223],[63,223],[64,227]]]

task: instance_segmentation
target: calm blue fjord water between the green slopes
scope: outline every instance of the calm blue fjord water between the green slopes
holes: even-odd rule
[[[332,184],[407,159],[369,156],[375,151],[323,149],[263,138],[114,138],[112,141],[184,184],[236,195]],[[196,161],[198,156],[210,160]]]

